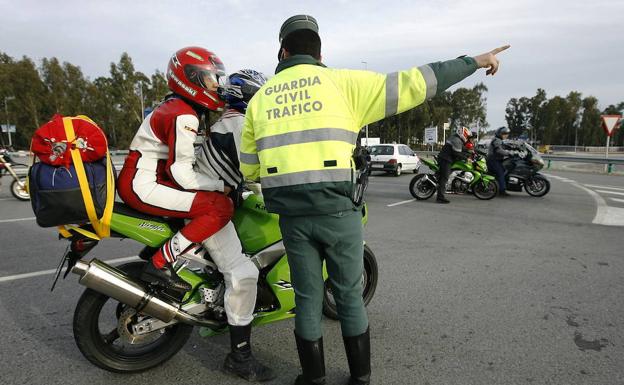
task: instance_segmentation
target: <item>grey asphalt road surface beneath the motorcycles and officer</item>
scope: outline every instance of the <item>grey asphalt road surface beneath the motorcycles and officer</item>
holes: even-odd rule
[[[544,198],[450,196],[450,205],[412,201],[411,175],[374,175],[366,230],[380,268],[369,306],[373,383],[624,383],[624,178],[549,174]],[[194,334],[172,360],[142,374],[92,366],[72,337],[83,290],[76,277],[52,293],[49,273],[13,279],[54,269],[66,244],[24,219],[33,217],[29,203],[2,182],[0,384],[245,383],[219,370],[226,336]],[[92,255],[139,249],[107,240]],[[279,372],[271,384],[290,384],[298,373],[292,330],[286,321],[254,331],[256,355]],[[325,321],[324,338],[328,384],[343,384],[336,322]]]

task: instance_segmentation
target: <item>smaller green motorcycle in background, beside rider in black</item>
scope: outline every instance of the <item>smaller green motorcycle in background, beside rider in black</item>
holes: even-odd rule
[[[409,190],[418,200],[429,199],[438,188],[438,159],[421,158],[421,161],[431,170],[431,173],[422,173],[414,176],[410,181]],[[446,183],[446,191],[455,194],[472,193],[479,199],[488,200],[498,194],[496,179],[487,174],[485,158],[479,154],[474,160],[456,161],[451,165],[451,174]]]

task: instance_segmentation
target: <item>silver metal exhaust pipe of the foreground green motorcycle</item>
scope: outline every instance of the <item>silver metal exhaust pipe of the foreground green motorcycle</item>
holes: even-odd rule
[[[179,305],[155,297],[145,290],[143,284],[124,272],[98,259],[90,262],[79,260],[71,270],[80,276],[79,283],[117,301],[133,307],[137,312],[158,318],[163,322],[173,320],[195,326],[213,329],[221,325],[215,321],[203,320],[182,310]]]

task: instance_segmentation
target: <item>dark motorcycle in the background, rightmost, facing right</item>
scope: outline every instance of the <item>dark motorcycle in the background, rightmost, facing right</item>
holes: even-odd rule
[[[511,152],[511,156],[503,160],[503,167],[507,172],[507,190],[520,192],[524,188],[533,197],[548,194],[550,181],[539,173],[544,167],[544,160],[539,152],[524,141],[506,140],[503,147]]]

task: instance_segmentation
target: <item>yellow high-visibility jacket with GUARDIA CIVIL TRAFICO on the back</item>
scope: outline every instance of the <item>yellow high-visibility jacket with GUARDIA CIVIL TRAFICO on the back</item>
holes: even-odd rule
[[[283,60],[247,107],[241,171],[260,179],[270,212],[350,210],[361,128],[418,106],[476,68],[460,58],[380,74],[326,68],[307,55]]]

